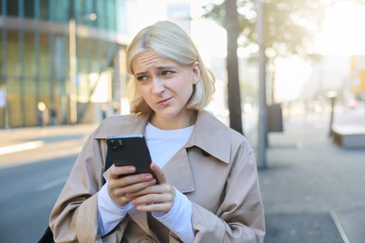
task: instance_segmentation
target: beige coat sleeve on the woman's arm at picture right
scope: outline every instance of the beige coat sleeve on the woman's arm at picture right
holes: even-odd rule
[[[262,243],[265,221],[254,153],[239,154],[217,214],[193,203],[194,242]]]

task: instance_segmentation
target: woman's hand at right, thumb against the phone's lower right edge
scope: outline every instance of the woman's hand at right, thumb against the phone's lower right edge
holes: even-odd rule
[[[154,163],[151,169],[156,174],[159,185],[145,187],[138,192],[128,193],[127,199],[137,206],[137,210],[145,212],[165,212],[168,213],[175,201],[175,189],[168,184],[163,171]],[[144,205],[140,205],[146,203]]]

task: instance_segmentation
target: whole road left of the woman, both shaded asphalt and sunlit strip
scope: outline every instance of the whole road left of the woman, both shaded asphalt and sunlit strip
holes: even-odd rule
[[[95,126],[0,131],[0,242],[38,242]]]

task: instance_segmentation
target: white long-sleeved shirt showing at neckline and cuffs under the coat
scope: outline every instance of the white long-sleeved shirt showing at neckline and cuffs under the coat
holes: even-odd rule
[[[175,130],[162,130],[148,123],[145,137],[152,161],[160,168],[175,156],[177,151],[188,142],[193,133],[194,126]],[[166,149],[168,148],[168,149]],[[133,208],[131,203],[120,207],[111,199],[108,194],[108,182],[106,182],[98,194],[98,235],[104,236],[109,233],[125,215]],[[175,201],[171,210],[163,212],[152,212],[152,215],[162,224],[165,224],[183,242],[193,242],[195,235],[191,223],[192,205],[190,200],[175,188]]]

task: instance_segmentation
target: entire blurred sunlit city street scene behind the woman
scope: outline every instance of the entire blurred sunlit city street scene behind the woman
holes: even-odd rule
[[[361,0],[0,0],[0,242],[42,235],[88,134],[129,112],[127,45],[163,19],[257,153],[266,242],[363,242]]]

